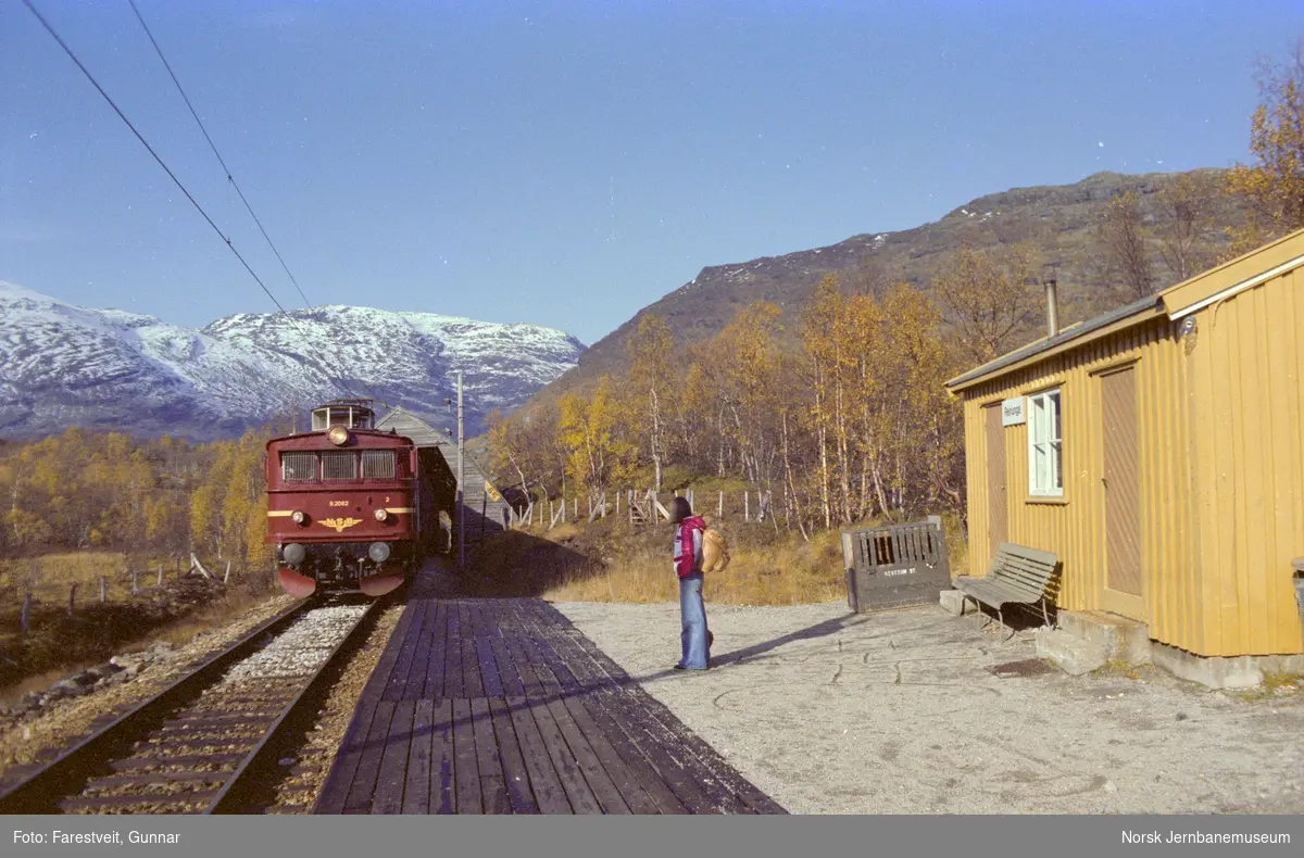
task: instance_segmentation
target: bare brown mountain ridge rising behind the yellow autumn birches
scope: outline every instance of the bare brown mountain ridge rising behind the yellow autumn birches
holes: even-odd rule
[[[681,347],[708,339],[739,309],[760,300],[777,304],[785,325],[792,326],[825,274],[845,278],[850,288],[875,293],[896,282],[928,291],[938,270],[966,241],[977,250],[1031,243],[1042,262],[1055,266],[1063,323],[1084,321],[1114,303],[1106,288],[1108,274],[1090,239],[1108,201],[1124,190],[1134,190],[1144,223],[1158,227],[1167,223],[1155,196],[1158,190],[1183,176],[1209,179],[1210,186],[1215,186],[1215,180],[1226,172],[1219,168],[1168,173],[1101,171],[1073,184],[1030,185],[983,194],[936,220],[908,229],[861,232],[820,248],[705,266],[695,278],[592,343],[574,369],[542,389],[532,402],[546,402],[569,390],[587,390],[600,376],[623,369],[625,343],[649,313],[669,323]],[[1215,226],[1235,224],[1244,216],[1243,203],[1217,189],[1211,190],[1209,206],[1209,218]],[[1209,244],[1221,249],[1227,237],[1210,231]],[[1158,253],[1151,254],[1151,263],[1157,273],[1164,273]]]

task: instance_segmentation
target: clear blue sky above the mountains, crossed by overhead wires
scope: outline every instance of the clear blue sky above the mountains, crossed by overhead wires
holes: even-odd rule
[[[287,306],[126,0],[33,0]],[[1011,186],[1248,159],[1299,3],[137,0],[314,304],[593,343],[707,265]],[[275,309],[20,0],[0,280],[201,326]]]

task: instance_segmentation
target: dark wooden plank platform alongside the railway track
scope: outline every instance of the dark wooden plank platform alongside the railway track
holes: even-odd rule
[[[314,812],[785,811],[546,602],[415,593]]]

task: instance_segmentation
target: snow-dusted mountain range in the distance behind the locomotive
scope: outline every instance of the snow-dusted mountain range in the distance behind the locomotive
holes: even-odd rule
[[[289,317],[241,313],[192,330],[0,282],[0,438],[73,425],[230,437],[349,391],[455,429],[443,400],[456,396],[459,369],[476,434],[485,415],[526,402],[584,351],[535,325],[359,306]]]

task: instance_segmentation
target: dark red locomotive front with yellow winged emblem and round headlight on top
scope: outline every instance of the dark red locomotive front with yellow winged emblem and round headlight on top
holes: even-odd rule
[[[267,442],[267,542],[292,596],[381,596],[421,561],[417,449],[374,419],[370,400],[335,399],[312,432]]]

